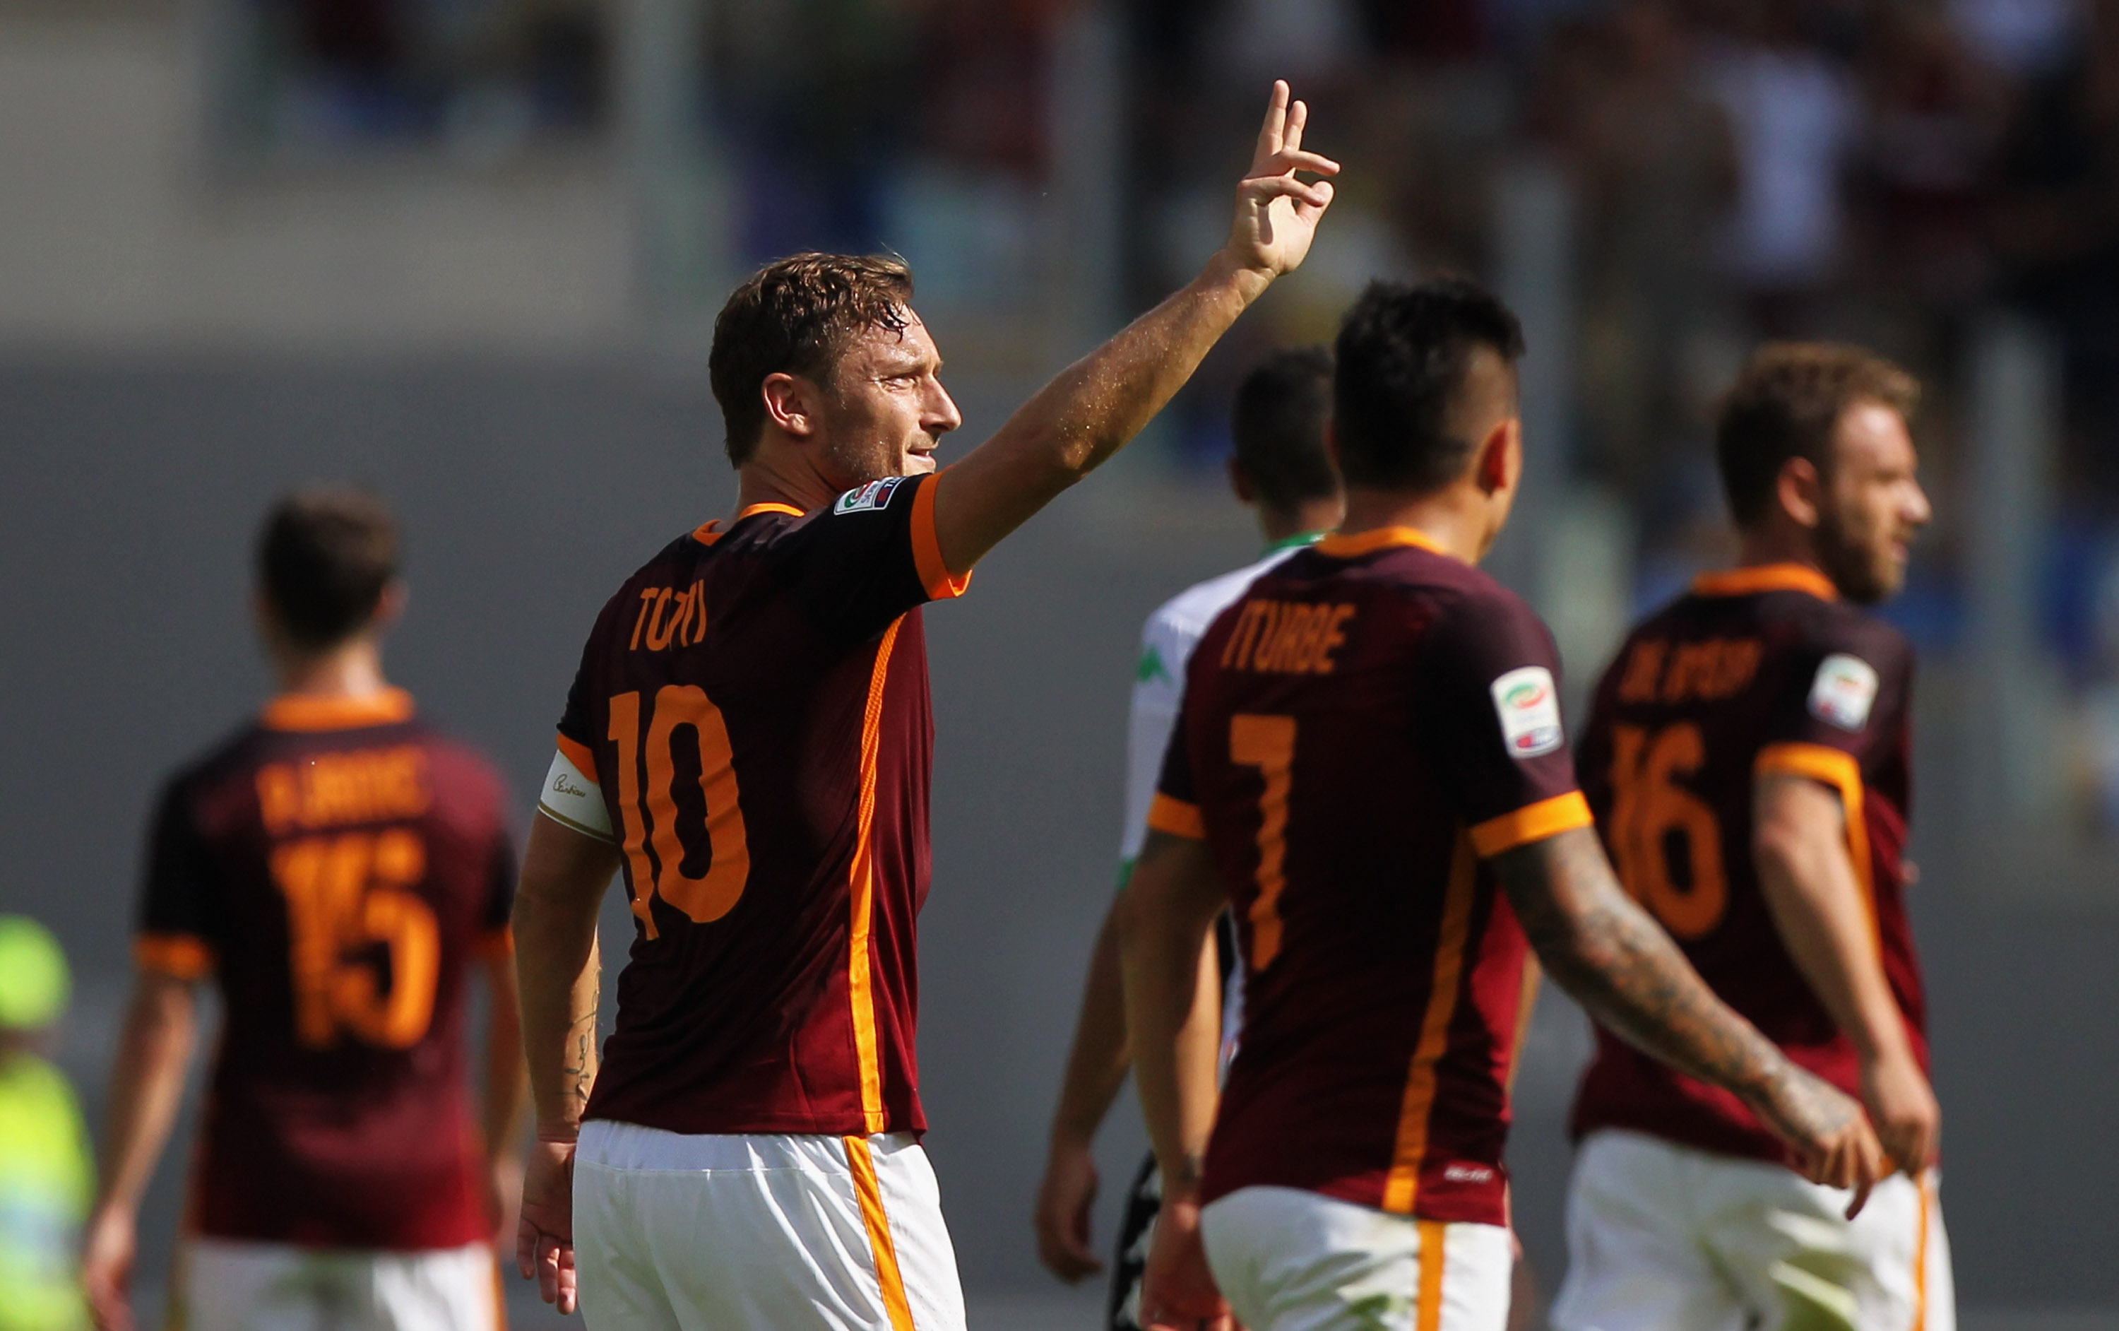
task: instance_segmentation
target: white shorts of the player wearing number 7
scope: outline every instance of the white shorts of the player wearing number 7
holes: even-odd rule
[[[1214,1282],[1250,1331],[1504,1331],[1515,1248],[1500,1225],[1420,1221],[1295,1187],[1199,1214]]]

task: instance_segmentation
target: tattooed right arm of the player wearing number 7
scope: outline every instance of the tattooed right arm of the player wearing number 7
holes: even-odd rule
[[[1860,1106],[1791,1064],[1733,1013],[1619,886],[1596,831],[1581,827],[1494,856],[1538,960],[1591,1017],[1672,1068],[1727,1087],[1771,1128],[1812,1183],[1854,1189],[1882,1174]]]

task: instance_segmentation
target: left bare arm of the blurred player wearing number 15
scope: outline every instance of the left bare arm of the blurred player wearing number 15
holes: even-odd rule
[[[129,1284],[140,1197],[155,1178],[161,1149],[176,1125],[197,1028],[193,981],[144,971],[125,1009],[125,1030],[110,1075],[102,1189],[81,1263],[89,1310],[104,1331],[129,1331],[133,1325]]]

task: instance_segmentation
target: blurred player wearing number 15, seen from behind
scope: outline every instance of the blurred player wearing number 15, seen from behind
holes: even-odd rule
[[[311,490],[265,519],[256,619],[280,695],[170,780],[148,837],[83,1261],[106,1331],[133,1325],[140,1195],[208,977],[220,1047],[170,1325],[498,1325],[494,1234],[513,1212],[523,1111],[515,846],[500,778],[381,674],[403,604],[375,498]],[[475,973],[492,1013],[483,1121],[466,1077]]]

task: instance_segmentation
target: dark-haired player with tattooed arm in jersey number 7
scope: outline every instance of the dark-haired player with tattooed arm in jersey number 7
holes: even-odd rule
[[[1373,284],[1335,348],[1346,523],[1193,653],[1121,905],[1163,1172],[1148,1327],[1500,1331],[1530,947],[1856,1206],[1877,1172],[1860,1106],[1714,998],[1596,839],[1551,634],[1477,568],[1521,475],[1519,354],[1471,282]],[[1216,1106],[1187,1028],[1225,907],[1246,1000]]]

